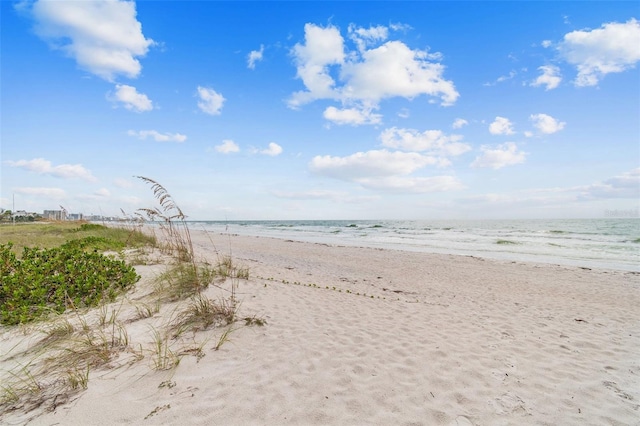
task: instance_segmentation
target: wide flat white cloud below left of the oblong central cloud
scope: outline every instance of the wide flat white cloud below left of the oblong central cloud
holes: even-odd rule
[[[316,156],[309,169],[316,174],[336,179],[357,181],[363,178],[408,175],[438,159],[416,152],[373,150],[357,152],[347,157]]]

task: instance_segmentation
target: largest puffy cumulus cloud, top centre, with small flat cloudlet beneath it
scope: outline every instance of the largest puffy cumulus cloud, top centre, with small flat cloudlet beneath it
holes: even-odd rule
[[[439,54],[410,49],[400,41],[387,41],[389,29],[368,29],[351,25],[348,49],[334,26],[305,25],[304,44],[292,49],[297,77],[305,89],[289,98],[291,108],[319,99],[340,102],[342,108],[325,110],[325,118],[337,124],[375,124],[371,111],[381,100],[392,97],[412,99],[427,95],[452,105],[459,94],[451,81],[443,78],[444,66]],[[360,110],[360,114],[354,114]],[[369,119],[363,119],[369,117]]]

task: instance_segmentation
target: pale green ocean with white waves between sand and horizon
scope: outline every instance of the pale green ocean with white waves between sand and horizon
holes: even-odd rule
[[[640,219],[194,221],[193,229],[640,272]]]

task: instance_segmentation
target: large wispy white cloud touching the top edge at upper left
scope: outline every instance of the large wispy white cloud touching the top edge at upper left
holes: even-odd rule
[[[49,1],[27,4],[36,33],[77,64],[105,80],[135,78],[153,40],[142,34],[135,2],[119,0]]]

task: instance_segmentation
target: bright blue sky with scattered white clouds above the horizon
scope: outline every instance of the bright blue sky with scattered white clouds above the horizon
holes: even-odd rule
[[[638,216],[635,1],[0,1],[0,207]]]

